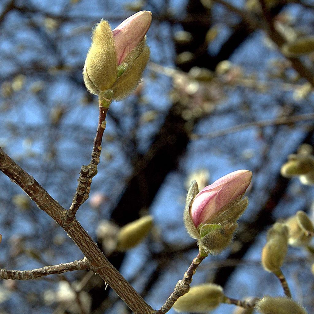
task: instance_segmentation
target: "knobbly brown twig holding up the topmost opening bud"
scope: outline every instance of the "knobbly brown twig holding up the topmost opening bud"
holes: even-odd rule
[[[101,106],[101,103],[99,104],[98,127],[94,139],[92,157],[89,164],[87,166],[83,165],[81,168],[81,172],[78,178],[78,187],[76,189],[71,207],[69,208],[67,216],[65,217],[67,222],[70,222],[74,219],[78,208],[89,197],[92,178],[97,174],[97,165],[99,164],[99,158],[101,154],[101,142],[106,128],[106,115],[110,106],[110,102],[111,101],[107,102],[107,107]]]

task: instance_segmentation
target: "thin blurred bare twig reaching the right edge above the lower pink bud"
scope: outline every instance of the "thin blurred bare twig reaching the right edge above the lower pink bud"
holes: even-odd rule
[[[314,120],[314,113],[306,113],[303,115],[297,116],[290,116],[290,117],[281,117],[277,119],[269,119],[264,121],[255,121],[255,122],[247,122],[243,124],[238,124],[234,127],[227,127],[222,130],[214,131],[208,134],[198,135],[198,134],[191,134],[191,139],[199,139],[199,138],[216,138],[219,136],[224,136],[230,133],[240,132],[243,129],[247,129],[249,127],[267,127],[271,125],[280,125],[280,124],[290,124],[294,122],[302,122],[306,120]]]

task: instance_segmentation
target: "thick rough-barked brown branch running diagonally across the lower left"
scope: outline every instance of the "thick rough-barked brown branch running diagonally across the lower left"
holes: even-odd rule
[[[120,296],[135,314],[152,314],[154,310],[107,260],[93,239],[74,217],[66,222],[67,210],[54,200],[26,171],[0,147],[0,171],[21,187],[36,205],[53,218],[74,241],[86,257],[88,269],[97,273]]]

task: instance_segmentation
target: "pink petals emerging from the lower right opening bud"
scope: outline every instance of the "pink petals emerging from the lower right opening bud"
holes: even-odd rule
[[[204,187],[191,205],[190,216],[195,227],[197,228],[201,223],[208,223],[214,214],[243,195],[251,180],[251,171],[238,170]]]

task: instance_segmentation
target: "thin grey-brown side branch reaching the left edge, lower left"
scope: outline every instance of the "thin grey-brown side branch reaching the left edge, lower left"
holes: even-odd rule
[[[7,270],[0,268],[1,279],[18,279],[18,280],[30,280],[43,276],[61,274],[66,272],[72,272],[73,270],[87,269],[86,260],[81,259],[71,263],[45,266],[42,268],[36,268],[32,270]]]

